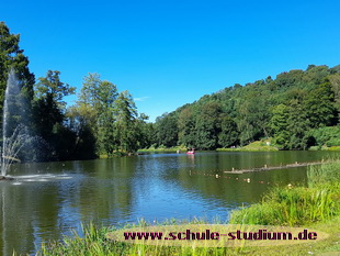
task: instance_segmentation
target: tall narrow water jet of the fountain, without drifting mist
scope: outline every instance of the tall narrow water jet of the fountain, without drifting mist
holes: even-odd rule
[[[19,80],[14,70],[11,69],[3,102],[0,180],[12,179],[8,176],[9,168],[12,163],[20,162],[16,156],[23,147],[26,137],[26,129],[20,124],[23,102]]]

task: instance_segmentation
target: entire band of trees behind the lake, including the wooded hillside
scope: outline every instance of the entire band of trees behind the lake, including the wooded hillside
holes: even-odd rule
[[[98,74],[83,78],[77,103],[67,107],[64,97],[75,88],[60,81],[57,70],[36,79],[19,42],[20,35],[1,22],[0,111],[14,70],[24,96],[18,109],[24,111],[12,114],[10,131],[19,123],[29,127],[31,138],[21,154],[26,160],[89,159],[180,145],[216,149],[261,138],[281,149],[340,145],[340,65],[309,65],[275,79],[237,84],[148,123],[128,91],[120,92]]]

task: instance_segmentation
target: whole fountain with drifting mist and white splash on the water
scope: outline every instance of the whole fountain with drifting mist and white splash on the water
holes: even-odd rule
[[[0,180],[12,180],[9,176],[13,163],[44,160],[46,152],[50,151],[48,143],[34,134],[29,127],[30,114],[27,99],[21,92],[23,85],[16,78],[14,70],[9,73],[2,114],[2,148],[0,151]],[[26,125],[25,125],[26,124]],[[31,176],[14,176],[15,180],[31,179]],[[36,175],[35,180],[65,179],[64,176]],[[68,177],[67,177],[68,178]]]

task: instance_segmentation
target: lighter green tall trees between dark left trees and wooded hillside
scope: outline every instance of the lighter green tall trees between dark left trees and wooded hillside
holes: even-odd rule
[[[146,124],[147,119],[145,114],[138,116],[128,91],[118,93],[115,85],[102,81],[98,74],[84,77],[79,101],[70,112],[77,134],[82,131],[91,133],[97,155],[106,156],[117,155],[117,151],[133,153],[148,146],[152,127]],[[86,140],[82,137],[83,142]]]

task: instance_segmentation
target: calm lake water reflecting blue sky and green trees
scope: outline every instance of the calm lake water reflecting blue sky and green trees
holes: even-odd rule
[[[60,240],[90,221],[227,221],[230,210],[260,201],[273,186],[306,183],[306,168],[241,175],[224,170],[316,162],[338,154],[206,152],[15,165],[11,175],[16,179],[0,182],[0,255],[11,255],[13,248],[32,254],[42,241]]]

